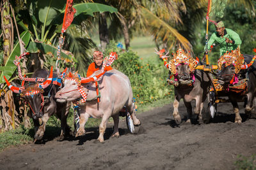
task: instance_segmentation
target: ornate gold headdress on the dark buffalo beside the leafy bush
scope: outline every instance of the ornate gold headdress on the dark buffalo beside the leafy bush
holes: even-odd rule
[[[189,53],[185,53],[182,48],[179,48],[179,50],[177,50],[177,52],[173,55],[173,59],[169,62],[169,69],[172,74],[177,73],[176,66],[179,64],[188,64],[190,71],[193,72],[198,64],[198,60],[193,59]]]

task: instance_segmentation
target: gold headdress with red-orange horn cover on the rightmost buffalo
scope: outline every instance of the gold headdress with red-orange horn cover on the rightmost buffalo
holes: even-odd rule
[[[252,61],[249,64],[244,64],[243,54],[240,53],[240,48],[238,47],[236,50],[232,50],[232,52],[226,52],[224,55],[220,57],[218,60],[218,69],[221,70],[223,64],[225,67],[233,64],[235,66],[235,73],[239,73],[241,69],[247,69],[252,66],[256,55],[253,57]]]

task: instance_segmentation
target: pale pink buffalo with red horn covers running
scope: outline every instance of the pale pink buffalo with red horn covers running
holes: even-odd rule
[[[118,123],[119,112],[124,108],[131,113],[134,125],[140,125],[140,120],[136,118],[132,87],[130,80],[125,74],[113,69],[103,74],[102,79],[99,81],[100,102],[97,102],[97,93],[94,81],[99,78],[100,71],[95,72],[89,78],[77,78],[74,74],[69,74],[68,78],[64,81],[64,87],[56,94],[57,101],[76,101],[77,99],[84,98],[86,94],[86,104],[81,106],[81,119],[79,122],[79,130],[76,136],[85,134],[84,125],[89,117],[102,118],[99,125],[99,138],[100,142],[104,141],[104,132],[109,117],[114,120],[114,132],[112,136],[119,136]],[[81,90],[82,89],[82,92]],[[96,100],[92,100],[96,99]]]

